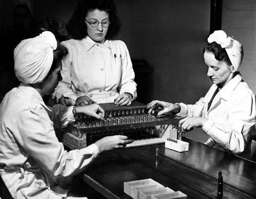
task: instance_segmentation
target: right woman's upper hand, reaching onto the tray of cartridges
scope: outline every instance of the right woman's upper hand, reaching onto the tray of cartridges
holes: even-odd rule
[[[176,114],[180,112],[180,105],[154,100],[147,104],[148,113],[161,116],[163,114]]]

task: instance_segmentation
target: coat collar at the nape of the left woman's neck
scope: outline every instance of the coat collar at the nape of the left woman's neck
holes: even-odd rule
[[[39,94],[39,92],[37,92],[37,90],[34,89],[32,86],[30,86],[29,84],[20,83],[18,89],[25,92],[27,96],[31,96],[36,103],[41,104],[47,110],[51,111],[42,100],[42,97]]]

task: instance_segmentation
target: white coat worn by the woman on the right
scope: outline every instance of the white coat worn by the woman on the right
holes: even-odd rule
[[[202,127],[210,137],[205,144],[250,158],[251,140],[256,136],[255,94],[238,73],[217,93],[207,111],[216,89],[218,86],[213,84],[205,97],[194,105],[180,103],[178,115],[208,118]]]

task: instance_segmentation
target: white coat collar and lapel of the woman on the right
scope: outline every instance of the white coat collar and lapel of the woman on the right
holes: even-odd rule
[[[237,87],[241,80],[242,75],[238,72],[238,74],[219,91],[219,96],[227,101],[231,97],[232,91]]]

